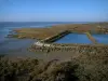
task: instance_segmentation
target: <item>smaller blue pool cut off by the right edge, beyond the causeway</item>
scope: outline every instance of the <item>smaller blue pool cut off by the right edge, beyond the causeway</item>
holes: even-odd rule
[[[98,43],[108,44],[108,35],[93,35]]]

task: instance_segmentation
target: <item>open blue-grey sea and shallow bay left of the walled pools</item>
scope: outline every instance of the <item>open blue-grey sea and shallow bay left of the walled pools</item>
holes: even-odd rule
[[[9,35],[10,31],[12,31],[15,28],[27,28],[27,27],[40,28],[40,27],[51,27],[52,25],[58,25],[58,24],[70,24],[70,23],[63,23],[63,22],[0,23],[0,54],[4,54],[13,58],[22,56],[37,57],[42,59],[45,58],[46,55],[44,54],[27,51],[27,49],[37,40],[31,40],[31,39],[21,40],[21,39],[5,38],[5,37]],[[54,55],[50,56],[49,58],[53,58]]]

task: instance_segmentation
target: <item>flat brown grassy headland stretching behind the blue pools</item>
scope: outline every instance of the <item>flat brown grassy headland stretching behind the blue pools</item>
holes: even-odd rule
[[[92,30],[95,32],[98,31],[104,32],[105,30],[108,30],[108,28],[106,28],[107,25],[108,23],[100,23],[100,24],[97,23],[97,24],[57,25],[49,28],[21,28],[21,29],[15,29],[14,31],[16,31],[17,35],[12,35],[12,36],[15,38],[45,39],[64,30],[70,30],[77,32],[86,32]],[[103,29],[99,29],[98,26],[105,28],[104,31]]]

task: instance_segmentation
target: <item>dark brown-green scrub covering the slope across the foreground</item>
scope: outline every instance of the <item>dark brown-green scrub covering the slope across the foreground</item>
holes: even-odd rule
[[[68,62],[1,57],[0,81],[108,81],[108,54],[79,54]]]

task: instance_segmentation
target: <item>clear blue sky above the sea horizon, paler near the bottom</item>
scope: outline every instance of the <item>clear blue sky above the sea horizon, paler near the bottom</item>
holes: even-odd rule
[[[108,0],[0,0],[0,22],[108,22]]]

